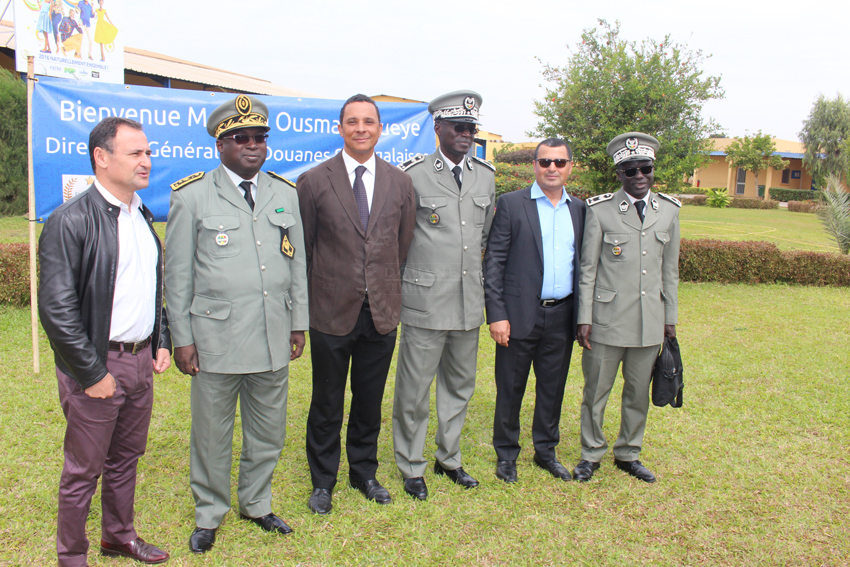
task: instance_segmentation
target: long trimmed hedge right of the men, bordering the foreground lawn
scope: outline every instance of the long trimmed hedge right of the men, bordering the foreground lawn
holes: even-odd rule
[[[679,278],[691,282],[850,286],[850,256],[783,251],[771,242],[682,239]]]

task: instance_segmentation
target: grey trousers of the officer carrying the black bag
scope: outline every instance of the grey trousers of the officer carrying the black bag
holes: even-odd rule
[[[605,405],[614,386],[617,370],[623,364],[623,400],[620,434],[614,443],[614,458],[635,461],[640,456],[646,413],[649,410],[649,382],[661,345],[615,347],[593,342],[584,349],[584,399],[581,402],[581,458],[598,463],[608,450],[602,433]]]

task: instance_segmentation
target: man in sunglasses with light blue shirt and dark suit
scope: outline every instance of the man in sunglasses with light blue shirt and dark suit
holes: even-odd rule
[[[509,483],[517,481],[519,413],[532,364],[534,462],[555,478],[572,478],[555,454],[576,336],[574,291],[584,233],[584,202],[564,189],[571,171],[566,142],[541,142],[535,183],[499,199],[484,255],[487,322],[496,341],[496,476]]]

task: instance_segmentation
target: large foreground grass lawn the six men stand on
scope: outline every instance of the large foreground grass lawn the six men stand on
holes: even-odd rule
[[[685,406],[650,410],[642,459],[658,476],[653,485],[617,470],[610,454],[587,484],[556,481],[534,467],[531,384],[519,482],[498,481],[491,446],[494,349],[482,329],[461,445],[464,466],[481,486],[464,491],[429,470],[428,501],[404,495],[392,455],[393,368],[378,478],[395,502],[381,507],[348,488],[343,452],[328,517],[311,514],[306,504],[308,351],[291,367],[287,442],[273,485],[274,510],[295,533],[265,534],[239,520],[237,511],[226,516],[216,547],[201,557],[187,549],[194,524],[190,382],[169,370],[156,378],[136,527],[171,552],[169,565],[847,565],[848,312],[846,289],[683,284],[678,330]],[[0,564],[51,565],[64,430],[52,355],[42,334],[42,371],[34,376],[27,309],[0,307],[0,335]],[[559,455],[570,468],[579,457],[579,350],[561,420]],[[620,386],[618,380],[605,424],[610,441],[619,426]],[[433,432],[432,420],[429,455]],[[96,497],[88,524],[95,549],[99,522]],[[132,565],[94,552],[89,560]]]

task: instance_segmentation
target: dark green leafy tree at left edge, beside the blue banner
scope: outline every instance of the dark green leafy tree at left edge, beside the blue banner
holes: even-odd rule
[[[27,211],[27,87],[0,69],[0,216]]]

